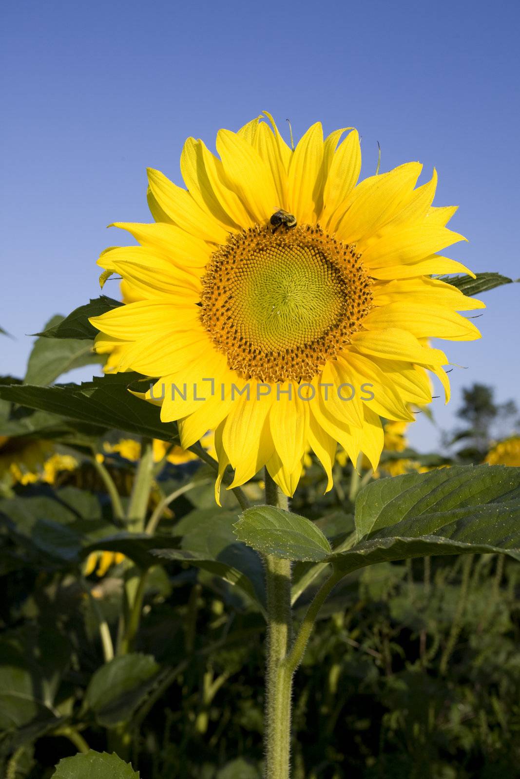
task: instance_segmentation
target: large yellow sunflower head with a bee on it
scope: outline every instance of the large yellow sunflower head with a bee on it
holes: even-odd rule
[[[220,130],[218,157],[189,138],[186,189],[148,171],[154,223],[115,223],[139,245],[98,261],[139,299],[90,322],[97,350],[117,349],[111,369],[154,379],[143,397],[179,422],[184,449],[215,430],[218,485],[228,465],[232,487],[265,465],[292,495],[307,446],[327,489],[338,443],[375,469],[380,417],[412,421],[428,372],[448,400],[429,339],[479,338],[458,312],[483,303],[432,277],[473,275],[438,254],[465,239],[446,227],[456,208],[432,206],[435,171],[421,186],[416,162],[357,183],[356,130],[324,139],[318,122],[292,150],[265,117]]]

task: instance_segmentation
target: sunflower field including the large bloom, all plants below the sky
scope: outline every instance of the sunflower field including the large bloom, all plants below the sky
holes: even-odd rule
[[[512,280],[352,128],[216,149],[2,377],[0,773],[518,776],[518,409],[407,438]]]

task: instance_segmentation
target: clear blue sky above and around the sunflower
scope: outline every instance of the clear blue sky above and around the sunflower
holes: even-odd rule
[[[510,2],[49,2],[4,11],[2,372],[23,375],[31,339],[57,312],[99,294],[105,226],[149,220],[147,166],[181,183],[187,136],[213,145],[271,111],[299,136],[355,125],[363,172],[420,160],[439,173],[437,205],[469,238],[451,256],[520,276],[518,26]],[[108,287],[108,294],[117,289]],[[520,284],[491,291],[483,340],[446,344],[461,387],[518,400]],[[77,374],[76,374],[77,375]],[[85,371],[82,377],[86,377]],[[426,419],[412,442],[428,449]]]

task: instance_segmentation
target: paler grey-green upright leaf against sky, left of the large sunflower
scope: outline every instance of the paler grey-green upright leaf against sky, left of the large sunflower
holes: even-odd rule
[[[48,321],[47,327],[59,326],[62,321],[62,316],[53,316]],[[34,342],[30,353],[23,382],[37,385],[51,384],[62,373],[72,371],[73,368],[81,368],[83,365],[104,363],[105,358],[105,354],[95,354],[92,351],[92,344],[87,340],[76,338],[53,340],[39,337]]]

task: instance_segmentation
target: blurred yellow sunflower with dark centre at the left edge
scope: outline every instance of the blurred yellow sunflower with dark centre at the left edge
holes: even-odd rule
[[[50,441],[0,436],[0,479],[21,485],[54,484],[59,473],[75,471],[78,465],[75,457],[56,452]]]

